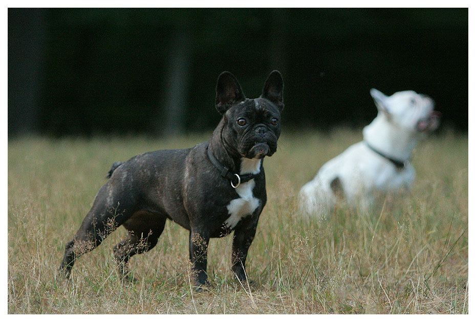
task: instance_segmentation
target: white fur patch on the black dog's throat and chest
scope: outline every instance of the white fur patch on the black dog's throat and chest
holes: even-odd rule
[[[241,162],[240,174],[259,173],[261,168],[260,159],[243,158]],[[251,215],[259,206],[259,200],[253,196],[254,179],[242,183],[236,188],[236,193],[240,198],[233,199],[227,205],[230,217],[225,221],[228,228],[234,228],[236,224],[246,216]]]

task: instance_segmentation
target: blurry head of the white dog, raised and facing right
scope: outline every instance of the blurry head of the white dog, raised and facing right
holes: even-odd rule
[[[428,132],[440,124],[440,112],[435,111],[434,101],[413,90],[397,91],[386,96],[372,88],[370,91],[379,112],[392,124],[409,132]]]

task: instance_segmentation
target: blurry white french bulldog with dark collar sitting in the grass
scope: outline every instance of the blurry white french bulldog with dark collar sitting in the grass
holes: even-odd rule
[[[409,188],[415,169],[409,163],[413,149],[440,123],[434,102],[413,90],[386,96],[370,90],[377,117],[363,129],[363,141],[329,160],[300,192],[300,209],[323,217],[343,197],[350,205],[367,207],[375,192]]]

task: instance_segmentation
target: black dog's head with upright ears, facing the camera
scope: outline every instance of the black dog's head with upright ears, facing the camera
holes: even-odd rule
[[[283,107],[283,78],[277,71],[270,74],[257,99],[245,98],[232,74],[223,72],[218,79],[217,109],[225,121],[222,136],[242,157],[264,158],[276,152]]]

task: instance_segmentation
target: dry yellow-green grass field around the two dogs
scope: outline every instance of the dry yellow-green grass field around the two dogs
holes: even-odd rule
[[[451,133],[418,147],[410,195],[312,222],[297,214],[299,188],[361,134],[283,135],[265,159],[268,203],[248,256],[251,286],[234,280],[227,237],[210,242],[212,288],[192,293],[188,232],[172,222],[153,250],[131,260],[137,284],[117,279],[111,249],[122,227],[77,261],[72,283],[55,279],[113,162],[207,139],[10,141],[8,312],[468,313],[468,140]]]

